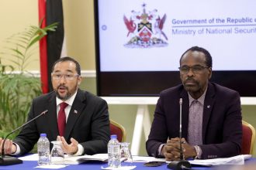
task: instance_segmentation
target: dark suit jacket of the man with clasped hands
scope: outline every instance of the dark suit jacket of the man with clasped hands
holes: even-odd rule
[[[154,121],[146,143],[148,155],[158,157],[157,149],[168,138],[179,137],[179,98],[182,97],[182,138],[187,139],[189,95],[182,85],[160,93]],[[240,96],[234,90],[209,83],[202,116],[202,158],[239,155],[242,140]]]

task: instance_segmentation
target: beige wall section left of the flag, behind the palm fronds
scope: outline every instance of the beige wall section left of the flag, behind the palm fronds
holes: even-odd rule
[[[1,0],[0,1],[0,52],[5,46],[5,39],[13,34],[24,31],[30,25],[38,25],[38,8],[36,0]],[[0,55],[2,56],[2,55]],[[38,70],[39,56],[38,50],[33,56],[33,63],[28,70]],[[2,63],[9,63],[4,62]]]

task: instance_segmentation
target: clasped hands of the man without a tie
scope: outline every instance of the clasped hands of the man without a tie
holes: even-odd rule
[[[189,145],[184,138],[182,138],[182,151],[185,159],[196,156],[195,148]],[[180,138],[171,138],[161,150],[161,154],[164,155],[166,161],[180,160],[180,153]]]

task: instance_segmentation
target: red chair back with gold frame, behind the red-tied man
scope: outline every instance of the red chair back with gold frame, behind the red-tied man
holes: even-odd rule
[[[110,119],[110,134],[116,134],[119,142],[126,141],[126,130],[116,121]]]

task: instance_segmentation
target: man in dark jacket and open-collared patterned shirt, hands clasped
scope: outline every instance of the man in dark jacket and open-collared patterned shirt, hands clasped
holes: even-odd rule
[[[179,117],[182,98],[182,151],[185,158],[239,155],[242,140],[240,95],[210,83],[212,56],[194,46],[180,59],[182,85],[160,93],[146,143],[147,153],[179,160]]]

